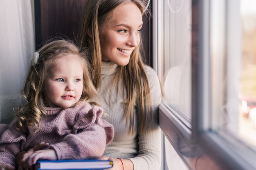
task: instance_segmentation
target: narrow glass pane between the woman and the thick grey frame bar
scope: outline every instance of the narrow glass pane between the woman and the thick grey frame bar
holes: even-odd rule
[[[191,0],[164,0],[164,103],[191,127]]]

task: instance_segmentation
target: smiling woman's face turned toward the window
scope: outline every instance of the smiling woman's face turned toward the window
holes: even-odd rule
[[[99,26],[102,60],[127,65],[139,44],[142,24],[141,11],[134,3],[114,9],[112,18]]]

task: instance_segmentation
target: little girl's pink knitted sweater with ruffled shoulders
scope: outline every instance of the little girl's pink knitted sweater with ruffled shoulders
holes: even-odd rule
[[[29,132],[15,129],[15,121],[8,126],[0,124],[0,163],[15,166],[20,151],[33,148],[40,142],[49,142],[58,159],[98,159],[114,138],[114,127],[101,119],[101,107],[78,102],[63,109],[46,107],[47,116],[41,119],[40,129]]]

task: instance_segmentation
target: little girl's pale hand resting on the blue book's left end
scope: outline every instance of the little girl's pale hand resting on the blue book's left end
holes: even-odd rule
[[[37,150],[26,159],[27,168],[33,169],[36,161],[41,159],[57,160],[57,155],[54,149]]]

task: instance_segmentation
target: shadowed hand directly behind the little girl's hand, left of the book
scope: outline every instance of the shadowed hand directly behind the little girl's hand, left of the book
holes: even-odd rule
[[[18,168],[18,170],[27,169],[27,166],[26,166],[27,157],[29,157],[29,155],[31,155],[35,151],[42,150],[44,148],[47,148],[48,146],[49,146],[49,143],[41,142],[40,144],[34,146],[34,148],[31,148],[30,150],[28,150],[27,152],[23,151],[18,153],[18,155],[16,156],[16,167]]]

